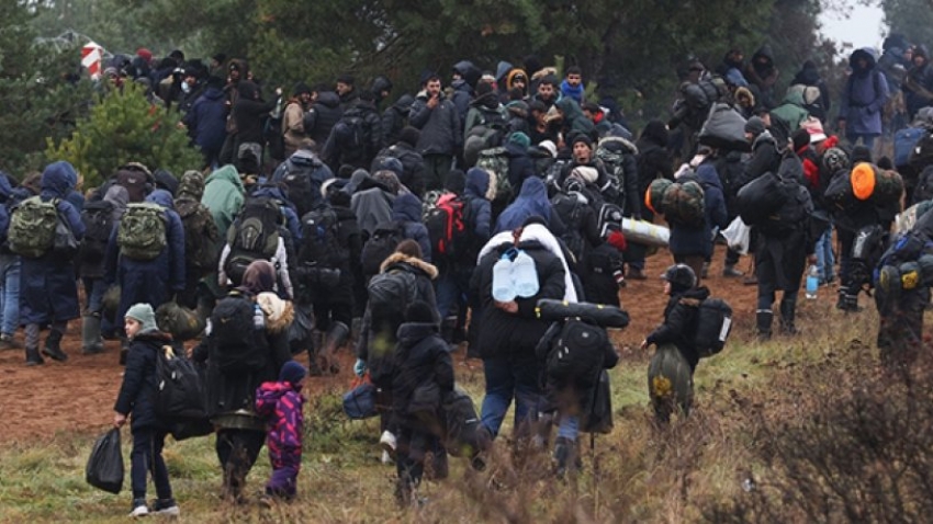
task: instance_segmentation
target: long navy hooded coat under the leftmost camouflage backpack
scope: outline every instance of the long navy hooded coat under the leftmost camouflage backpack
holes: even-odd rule
[[[40,197],[43,202],[58,198],[58,213],[71,227],[75,239],[85,236],[78,210],[66,196],[75,187],[78,173],[70,163],[53,162],[42,173]],[[22,258],[20,273],[20,321],[23,324],[78,318],[78,288],[70,260],[52,252],[38,258]]]

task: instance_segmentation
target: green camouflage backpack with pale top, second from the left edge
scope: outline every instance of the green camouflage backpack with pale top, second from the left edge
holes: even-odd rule
[[[132,260],[154,260],[167,243],[165,207],[150,202],[126,206],[116,228],[121,255]]]

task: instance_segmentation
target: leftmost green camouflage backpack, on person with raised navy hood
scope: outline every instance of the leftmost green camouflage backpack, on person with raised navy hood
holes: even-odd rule
[[[7,238],[10,251],[29,259],[37,259],[55,241],[55,226],[58,223],[58,198],[43,202],[31,196],[13,208]]]

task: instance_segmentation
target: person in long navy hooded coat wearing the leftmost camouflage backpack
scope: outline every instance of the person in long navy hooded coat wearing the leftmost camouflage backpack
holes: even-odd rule
[[[80,241],[85,236],[85,225],[78,210],[65,200],[78,183],[78,173],[66,161],[53,162],[46,166],[42,173],[42,192],[37,196],[41,203],[53,203],[54,217],[63,220],[70,229],[75,239]],[[20,206],[24,204],[21,203]],[[18,228],[14,209],[10,219],[8,239],[11,246],[15,243],[13,236],[19,232],[31,238],[45,235],[54,237],[56,219],[37,220]],[[40,230],[43,235],[40,235]],[[47,238],[47,237],[46,237]],[[27,243],[27,242],[26,242]],[[78,287],[75,281],[75,269],[70,258],[61,257],[53,249],[37,258],[22,257],[20,276],[20,321],[25,324],[26,365],[43,364],[38,349],[38,335],[42,326],[50,324],[50,331],[45,339],[42,353],[52,360],[65,362],[68,355],[61,351],[61,339],[68,327],[68,320],[78,318]]]

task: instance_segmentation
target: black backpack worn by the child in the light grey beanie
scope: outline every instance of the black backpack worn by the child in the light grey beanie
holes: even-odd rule
[[[206,418],[198,368],[184,356],[170,352],[170,345],[160,348],[156,360],[156,415],[164,422]]]

